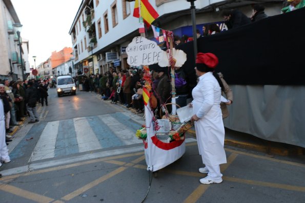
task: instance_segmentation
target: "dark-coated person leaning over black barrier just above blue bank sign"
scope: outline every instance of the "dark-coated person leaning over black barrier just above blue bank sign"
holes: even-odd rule
[[[223,10],[221,16],[225,20],[225,24],[228,29],[238,28],[243,25],[250,24],[251,20],[240,10]]]

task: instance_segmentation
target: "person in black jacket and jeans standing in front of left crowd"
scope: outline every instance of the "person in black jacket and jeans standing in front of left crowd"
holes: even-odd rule
[[[38,94],[37,94],[36,87],[33,86],[33,82],[28,82],[28,88],[26,90],[26,105],[27,109],[30,115],[30,122],[29,123],[35,123],[38,122],[38,116],[36,112],[36,103],[38,101]]]

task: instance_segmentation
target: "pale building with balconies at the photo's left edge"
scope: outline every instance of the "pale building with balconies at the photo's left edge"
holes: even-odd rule
[[[10,0],[0,0],[0,78],[23,79],[30,73],[29,41],[16,33],[14,24],[21,24]],[[21,32],[22,35],[22,32]],[[19,48],[19,41],[21,49]]]

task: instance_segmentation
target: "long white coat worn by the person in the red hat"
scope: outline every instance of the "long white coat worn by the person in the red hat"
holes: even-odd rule
[[[225,127],[220,109],[221,88],[212,72],[199,77],[192,96],[193,114],[200,118],[195,122],[195,130],[202,162],[210,166],[227,163],[223,149]]]

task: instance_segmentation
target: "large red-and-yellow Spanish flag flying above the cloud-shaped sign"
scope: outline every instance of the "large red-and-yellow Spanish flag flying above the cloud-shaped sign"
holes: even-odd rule
[[[159,17],[159,14],[155,11],[155,9],[150,5],[148,0],[135,0],[133,16],[140,17],[139,13],[139,1],[141,5],[141,16],[144,19],[144,22],[147,27],[151,25],[151,23]]]

